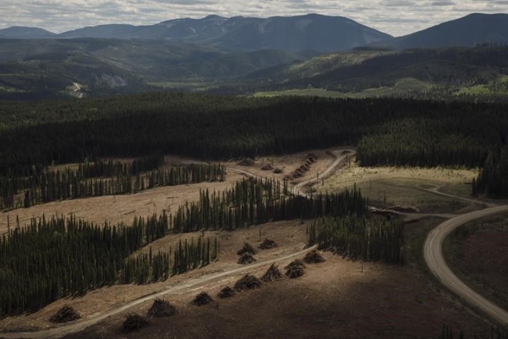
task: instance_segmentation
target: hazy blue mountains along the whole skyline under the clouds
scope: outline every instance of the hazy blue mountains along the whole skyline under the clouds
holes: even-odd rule
[[[312,49],[336,52],[360,46],[413,47],[475,46],[508,43],[508,14],[473,13],[403,37],[392,37],[340,16],[223,18],[168,20],[155,25],[98,25],[54,34],[41,28],[11,27],[0,38],[72,39],[111,38],[168,40],[234,51],[279,49],[286,52]]]

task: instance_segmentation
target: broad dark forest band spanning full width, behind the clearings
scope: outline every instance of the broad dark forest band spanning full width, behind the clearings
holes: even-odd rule
[[[506,104],[473,102],[151,93],[2,106],[2,175],[85,157],[220,160],[357,143],[362,165],[476,167],[508,131]]]

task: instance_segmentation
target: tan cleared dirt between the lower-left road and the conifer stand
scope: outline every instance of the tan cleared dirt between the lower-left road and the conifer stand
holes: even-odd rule
[[[199,278],[202,275],[230,270],[241,267],[236,263],[238,255],[236,251],[243,246],[244,242],[257,247],[265,238],[270,238],[277,242],[279,246],[270,250],[260,250],[254,257],[258,261],[269,261],[281,256],[285,256],[296,251],[301,251],[306,245],[306,225],[300,222],[274,222],[272,224],[261,225],[258,227],[250,227],[234,232],[227,231],[210,231],[195,232],[186,234],[171,234],[150,244],[152,251],[159,249],[169,251],[169,246],[174,249],[179,240],[199,237],[210,237],[213,241],[214,237],[220,242],[219,261],[211,263],[205,268],[193,270],[191,272],[176,275],[169,278],[166,282],[150,285],[114,285],[104,287],[99,290],[88,292],[83,297],[61,299],[35,314],[28,316],[11,316],[6,319],[0,319],[1,331],[26,331],[30,329],[41,329],[54,326],[47,319],[54,314],[64,304],[70,304],[80,311],[83,319],[93,318],[99,312],[105,312],[109,309],[115,309],[126,302],[138,299],[145,295],[164,290],[169,285],[180,283],[190,278]],[[142,251],[150,251],[150,246],[145,247]],[[141,251],[140,251],[141,252]],[[134,254],[135,255],[135,254]]]

